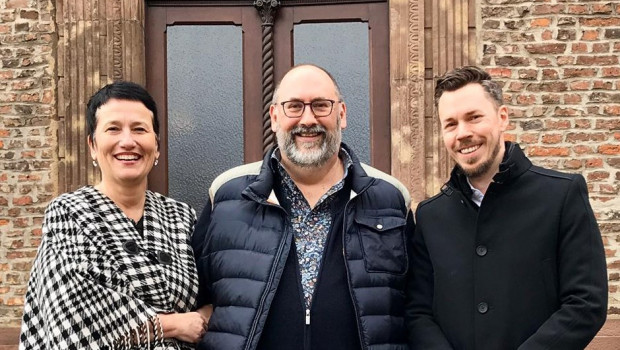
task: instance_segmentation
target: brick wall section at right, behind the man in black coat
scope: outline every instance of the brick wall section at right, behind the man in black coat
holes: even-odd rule
[[[480,0],[481,65],[504,83],[509,139],[538,165],[581,173],[620,317],[620,1]]]

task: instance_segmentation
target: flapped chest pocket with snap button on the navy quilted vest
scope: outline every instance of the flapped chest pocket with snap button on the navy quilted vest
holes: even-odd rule
[[[359,214],[355,217],[355,222],[359,229],[366,271],[393,274],[407,272],[407,220],[400,216]]]

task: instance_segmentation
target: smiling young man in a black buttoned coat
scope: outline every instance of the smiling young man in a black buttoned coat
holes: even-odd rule
[[[504,141],[501,88],[477,67],[441,77],[435,104],[456,166],[416,211],[411,348],[585,348],[605,322],[607,274],[584,178]]]

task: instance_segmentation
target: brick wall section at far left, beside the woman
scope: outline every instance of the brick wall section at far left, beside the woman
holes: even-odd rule
[[[0,327],[19,325],[47,202],[55,195],[54,9],[0,1]]]

